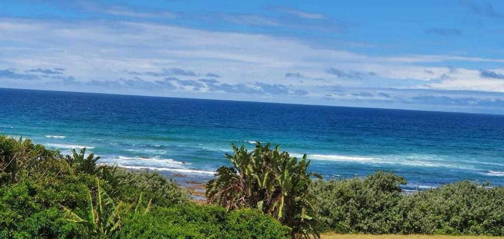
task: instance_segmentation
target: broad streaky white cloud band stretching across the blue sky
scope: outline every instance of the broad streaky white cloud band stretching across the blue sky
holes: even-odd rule
[[[221,82],[229,84],[260,81],[311,87],[308,96],[323,95],[322,91],[316,91],[315,86],[321,84],[314,80],[316,78],[326,79],[328,85],[363,87],[368,86],[369,79],[376,80],[374,86],[405,80],[400,87],[504,92],[504,81],[482,78],[478,70],[457,68],[454,71],[448,67],[418,65],[501,63],[504,59],[452,55],[371,56],[348,50],[314,48],[291,38],[151,22],[3,18],[0,31],[3,43],[0,69],[63,67],[77,82],[118,80],[128,77],[125,71],[181,68],[212,72],[222,76]],[[349,81],[326,73],[328,68],[375,75]],[[302,81],[285,78],[288,72],[302,74],[305,78]],[[146,76],[144,80],[154,82],[158,78]],[[424,83],[408,83],[408,80]],[[0,84],[7,86],[6,82]]]

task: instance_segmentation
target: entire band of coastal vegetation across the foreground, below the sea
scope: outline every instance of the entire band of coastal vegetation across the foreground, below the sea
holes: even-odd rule
[[[199,205],[156,172],[0,136],[0,238],[504,235],[504,187],[463,181],[405,193],[405,178],[382,171],[323,181],[306,156],[260,143],[226,157],[232,166],[217,170]]]

